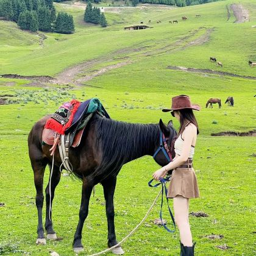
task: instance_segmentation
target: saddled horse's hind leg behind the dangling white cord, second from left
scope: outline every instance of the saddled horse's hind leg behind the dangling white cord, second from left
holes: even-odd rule
[[[51,166],[50,166],[51,168]],[[49,177],[49,183],[50,183],[50,179],[51,179],[51,208],[52,208],[52,201],[54,199],[54,191],[55,188],[57,187],[57,185],[60,182],[60,176],[61,176],[61,172],[59,171],[59,168],[57,168],[56,166],[54,166],[54,169],[52,170],[52,178],[51,178],[51,174]],[[48,239],[52,239],[52,240],[56,240],[57,236],[56,233],[54,231],[54,229],[52,228],[52,211],[49,214],[49,207],[50,207],[50,190],[49,190],[49,183],[45,189],[45,196],[46,196],[46,218],[45,218],[45,229],[47,232],[47,238]]]

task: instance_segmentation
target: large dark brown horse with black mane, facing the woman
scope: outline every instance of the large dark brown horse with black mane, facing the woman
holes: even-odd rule
[[[50,155],[50,145],[43,143],[42,133],[44,125],[50,116],[44,116],[38,121],[29,133],[29,157],[34,171],[34,183],[37,190],[35,202],[38,212],[37,244],[46,244],[42,222],[43,208],[43,177],[46,165],[52,166],[51,183],[46,187],[46,222],[45,229],[48,239],[57,239],[52,227],[52,212],[50,205],[54,199],[54,191],[60,181],[60,166],[62,160],[59,151]],[[82,180],[82,199],[79,212],[79,222],[74,234],[73,249],[75,252],[83,250],[82,229],[88,215],[88,207],[93,187],[101,183],[104,189],[105,210],[108,223],[108,247],[115,246],[116,240],[114,224],[113,196],[116,187],[116,176],[125,163],[142,157],[154,155],[160,147],[160,136],[168,138],[166,149],[170,149],[172,138],[176,130],[169,121],[168,126],[160,119],[159,124],[130,124],[112,119],[102,118],[94,114],[87,124],[81,143],[77,148],[69,148],[69,161],[73,165],[73,174]],[[168,151],[169,152],[169,151]],[[171,152],[172,149],[171,149]],[[167,154],[167,152],[165,152]],[[168,159],[163,151],[154,155],[155,162],[164,166]],[[174,156],[174,155],[172,155]],[[63,166],[62,166],[63,169]],[[51,186],[51,187],[50,187]],[[51,194],[50,194],[51,193]],[[51,201],[51,204],[50,204]],[[121,247],[119,250],[123,251]]]

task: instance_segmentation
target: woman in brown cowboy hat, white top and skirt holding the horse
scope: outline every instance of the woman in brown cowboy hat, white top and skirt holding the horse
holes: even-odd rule
[[[171,111],[171,115],[180,122],[179,133],[174,143],[176,156],[172,162],[153,174],[154,179],[158,180],[173,169],[166,197],[173,198],[174,219],[180,231],[180,255],[182,256],[194,255],[195,243],[192,243],[188,206],[190,198],[199,197],[196,174],[192,165],[194,147],[199,133],[193,109],[199,111],[200,107],[197,104],[191,104],[190,98],[186,95],[172,98],[171,108],[163,109],[163,112]]]

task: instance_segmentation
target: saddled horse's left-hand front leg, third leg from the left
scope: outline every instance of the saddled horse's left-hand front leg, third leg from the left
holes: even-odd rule
[[[79,222],[76,228],[76,233],[74,235],[73,241],[73,249],[74,252],[83,251],[84,246],[82,245],[82,229],[84,226],[85,219],[88,215],[88,207],[89,201],[91,196],[91,191],[93,190],[94,183],[89,182],[87,178],[83,180],[83,187],[82,187],[82,199],[79,211]]]

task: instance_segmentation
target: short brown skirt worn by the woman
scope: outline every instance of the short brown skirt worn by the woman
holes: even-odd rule
[[[186,198],[196,198],[200,196],[194,168],[176,168],[172,171],[171,181],[168,188],[168,198],[177,195]]]

